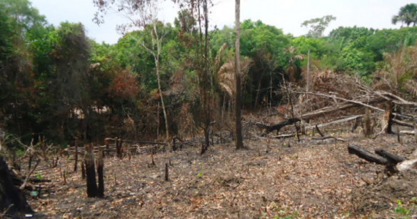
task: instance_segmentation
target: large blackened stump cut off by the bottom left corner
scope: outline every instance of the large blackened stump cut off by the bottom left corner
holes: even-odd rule
[[[21,190],[13,184],[6,161],[0,156],[0,213],[13,218],[24,217],[25,213],[35,213]]]

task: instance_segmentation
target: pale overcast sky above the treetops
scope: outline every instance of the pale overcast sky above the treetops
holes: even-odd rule
[[[98,26],[92,22],[96,11],[92,0],[30,0],[32,6],[38,8],[41,15],[55,26],[60,22],[81,22],[87,35],[97,42],[116,43],[121,37],[115,31],[117,24],[126,23],[126,18],[115,11],[109,12],[105,23]],[[234,0],[213,0],[210,26],[234,25]],[[327,32],[338,26],[364,26],[374,29],[399,28],[400,24],[391,24],[393,15],[407,3],[416,1],[406,0],[241,0],[240,18],[260,19],[263,23],[277,26],[284,33],[295,36],[307,33],[300,24],[307,19],[333,15],[333,21]],[[161,3],[159,19],[163,22],[174,22],[178,8],[170,0]]]

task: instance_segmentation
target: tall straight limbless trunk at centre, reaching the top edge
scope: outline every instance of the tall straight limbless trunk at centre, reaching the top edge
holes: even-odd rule
[[[240,75],[240,0],[236,0],[236,102],[235,102],[235,122],[236,122],[236,149],[243,149],[242,134],[242,86]]]

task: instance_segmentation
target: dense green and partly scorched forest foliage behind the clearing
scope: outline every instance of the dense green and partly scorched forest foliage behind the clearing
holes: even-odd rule
[[[319,26],[300,37],[261,21],[242,22],[240,48],[248,68],[244,108],[279,104],[275,91],[283,80],[303,86],[309,52],[311,69],[330,68],[370,83],[375,72],[388,69],[386,54],[417,40],[417,27],[339,27],[323,37],[332,19],[311,20],[306,25]],[[152,43],[147,28],[127,33],[117,44],[98,44],[85,36],[82,24],[50,26],[28,0],[0,0],[0,129],[25,143],[39,136],[62,145],[74,138],[157,138],[165,128],[154,57],[143,47]],[[230,106],[225,102],[231,98],[219,86],[225,79],[218,74],[232,66],[234,29],[211,31],[211,57],[203,59],[196,20],[186,10],[173,25],[158,22],[157,29],[164,35],[159,62],[170,132],[194,133],[203,83],[210,87],[206,101],[213,112]],[[202,60],[213,63],[210,74],[202,74]]]

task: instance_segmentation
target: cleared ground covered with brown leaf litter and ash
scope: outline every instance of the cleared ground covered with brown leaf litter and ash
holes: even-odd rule
[[[156,166],[149,154],[107,157],[102,199],[86,197],[81,171],[72,172],[74,161],[61,159],[58,168],[38,173],[52,182],[28,201],[43,218],[415,217],[415,172],[390,175],[384,166],[347,153],[347,145],[355,144],[411,156],[413,137],[398,143],[395,135],[373,140],[346,131],[327,134],[347,142],[259,138],[239,151],[227,143],[204,155],[197,147],[158,153]]]

